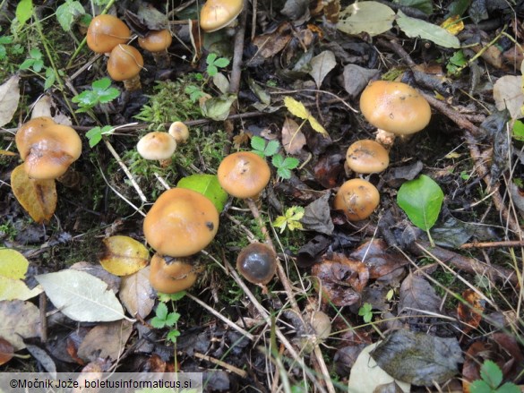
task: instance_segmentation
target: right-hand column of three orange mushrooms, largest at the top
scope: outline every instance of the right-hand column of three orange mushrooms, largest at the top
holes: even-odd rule
[[[390,164],[389,149],[396,135],[419,132],[429,124],[431,108],[426,99],[406,83],[374,81],[360,96],[365,119],[378,128],[376,141],[356,141],[348,148],[346,165],[356,175],[380,173]],[[380,194],[365,179],[348,180],[335,195],[333,207],[349,221],[368,218],[377,208]]]

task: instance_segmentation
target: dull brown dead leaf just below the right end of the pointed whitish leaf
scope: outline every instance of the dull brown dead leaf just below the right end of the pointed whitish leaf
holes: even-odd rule
[[[78,355],[86,362],[107,357],[116,360],[124,352],[132,331],[133,324],[128,320],[101,323],[84,337]]]

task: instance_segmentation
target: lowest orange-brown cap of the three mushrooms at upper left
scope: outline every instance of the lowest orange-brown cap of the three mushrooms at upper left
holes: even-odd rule
[[[136,47],[118,44],[107,60],[107,73],[114,81],[132,79],[143,68],[143,58]]]

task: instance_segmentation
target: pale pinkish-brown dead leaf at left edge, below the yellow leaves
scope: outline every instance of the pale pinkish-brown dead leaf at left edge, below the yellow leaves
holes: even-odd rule
[[[25,348],[24,338],[39,337],[40,312],[36,305],[21,300],[0,301],[0,337],[15,351]]]

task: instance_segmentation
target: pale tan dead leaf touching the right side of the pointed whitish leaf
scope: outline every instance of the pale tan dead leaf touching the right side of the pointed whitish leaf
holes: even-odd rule
[[[150,286],[150,267],[122,278],[119,296],[127,312],[145,319],[155,305],[155,294]]]

